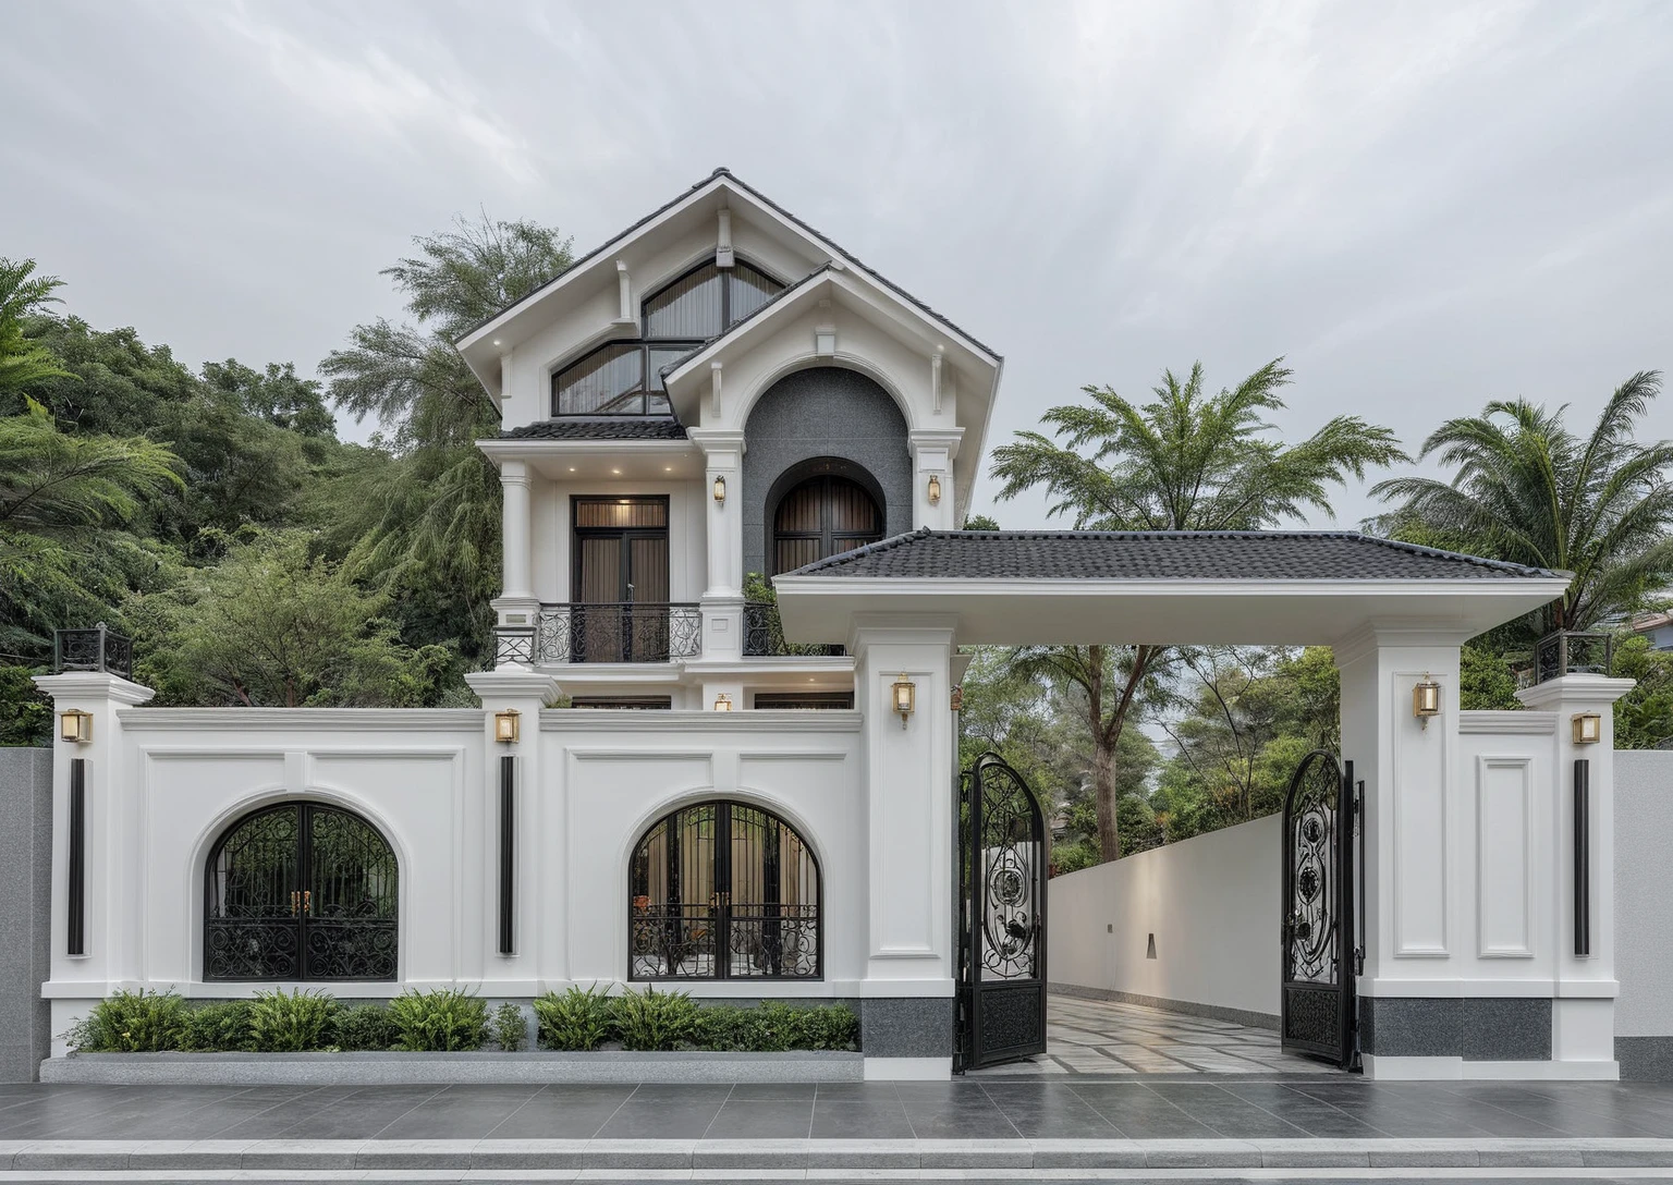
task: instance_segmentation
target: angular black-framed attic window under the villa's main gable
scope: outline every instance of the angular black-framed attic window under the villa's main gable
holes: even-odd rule
[[[609,341],[552,375],[552,415],[671,415],[663,367],[729,330],[783,288],[748,263],[699,263],[646,298],[637,341]]]

